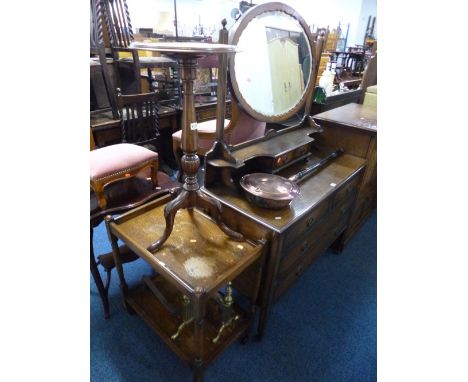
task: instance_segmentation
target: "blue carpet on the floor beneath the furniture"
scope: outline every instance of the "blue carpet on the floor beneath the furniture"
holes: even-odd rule
[[[206,382],[377,380],[377,217],[374,211],[339,256],[326,251],[273,306],[261,342],[233,344]],[[110,250],[104,225],[95,253]],[[128,284],[150,268],[125,266]],[[91,278],[91,381],[191,381],[191,371],[137,315],[124,310],[115,271],[111,318]]]

